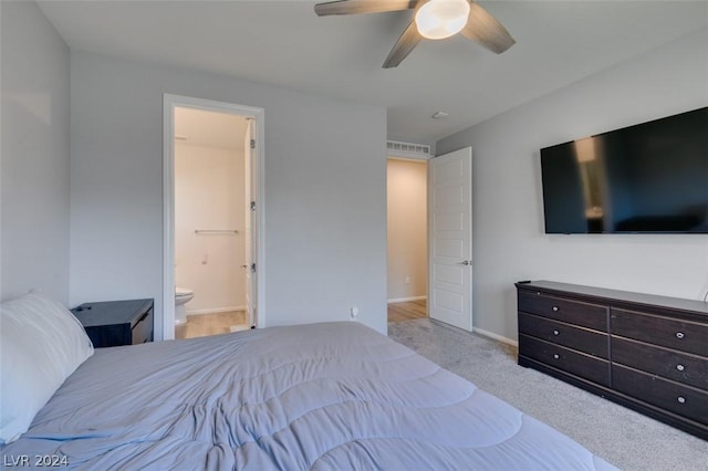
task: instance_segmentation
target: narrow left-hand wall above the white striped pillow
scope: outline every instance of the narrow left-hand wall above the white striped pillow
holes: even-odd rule
[[[0,2],[2,299],[69,301],[69,48],[34,2]]]

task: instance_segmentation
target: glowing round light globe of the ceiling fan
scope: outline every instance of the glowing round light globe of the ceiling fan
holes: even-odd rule
[[[439,40],[457,34],[467,24],[467,0],[430,0],[416,12],[416,27],[423,38]]]

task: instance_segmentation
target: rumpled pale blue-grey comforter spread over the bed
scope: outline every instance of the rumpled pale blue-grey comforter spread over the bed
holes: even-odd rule
[[[17,329],[6,311],[3,327]],[[85,350],[77,357],[86,357],[27,431],[3,430],[6,465],[27,458],[87,470],[614,469],[355,322],[95,352],[76,337]],[[3,380],[12,368],[6,344]]]

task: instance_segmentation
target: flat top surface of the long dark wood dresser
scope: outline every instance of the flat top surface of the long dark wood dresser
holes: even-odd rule
[[[580,284],[560,283],[555,281],[531,281],[516,283],[519,290],[543,291],[566,295],[590,296],[608,302],[625,302],[645,306],[660,306],[671,310],[686,311],[708,316],[708,303],[699,300],[684,300],[680,297],[662,296],[657,294],[634,293],[631,291],[610,290],[605,287],[585,286]]]

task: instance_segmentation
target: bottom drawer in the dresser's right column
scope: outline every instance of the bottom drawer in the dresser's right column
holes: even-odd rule
[[[613,364],[612,387],[679,416],[708,425],[708,393]]]

